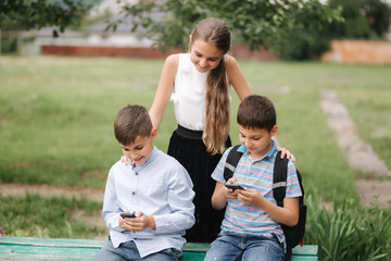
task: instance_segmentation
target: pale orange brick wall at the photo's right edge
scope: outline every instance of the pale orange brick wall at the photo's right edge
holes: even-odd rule
[[[391,64],[391,41],[332,40],[323,62]]]

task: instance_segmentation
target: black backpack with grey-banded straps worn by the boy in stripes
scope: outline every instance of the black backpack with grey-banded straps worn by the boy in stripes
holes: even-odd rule
[[[238,162],[242,156],[242,152],[238,151],[240,145],[237,145],[229,151],[226,160],[226,164],[224,166],[224,178],[228,181],[234,176],[234,172]],[[288,159],[285,157],[281,159],[281,152],[278,151],[276,156],[276,162],[274,166],[274,175],[273,175],[273,195],[277,201],[278,207],[283,207],[283,198],[286,196],[286,187],[287,187],[287,167],[288,167]],[[304,188],[302,184],[302,176],[297,170],[298,179],[300,184],[300,188],[302,190],[302,196],[299,197],[299,222],[294,226],[287,226],[281,224],[281,228],[283,231],[283,235],[287,241],[287,253],[286,260],[290,260],[292,254],[292,248],[294,248],[299,243],[303,245],[303,237],[305,233],[305,220],[306,220],[306,206],[304,204]]]

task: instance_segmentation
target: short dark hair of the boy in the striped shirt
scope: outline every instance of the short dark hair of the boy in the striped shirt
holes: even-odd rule
[[[249,96],[239,105],[237,122],[245,128],[256,127],[272,132],[272,128],[277,123],[275,107],[264,96]]]

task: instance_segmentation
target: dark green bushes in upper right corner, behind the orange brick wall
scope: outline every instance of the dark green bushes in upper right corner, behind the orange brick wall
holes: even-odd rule
[[[331,39],[381,39],[388,32],[391,8],[381,0],[329,0],[333,10],[341,10],[343,20],[324,23],[321,28],[298,24],[278,48],[285,60],[310,60],[329,49]]]

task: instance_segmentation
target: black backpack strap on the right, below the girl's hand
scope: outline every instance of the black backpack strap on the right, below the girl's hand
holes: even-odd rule
[[[273,196],[276,199],[278,207],[283,207],[287,188],[287,170],[288,159],[287,157],[281,159],[281,152],[278,151],[273,174]]]

